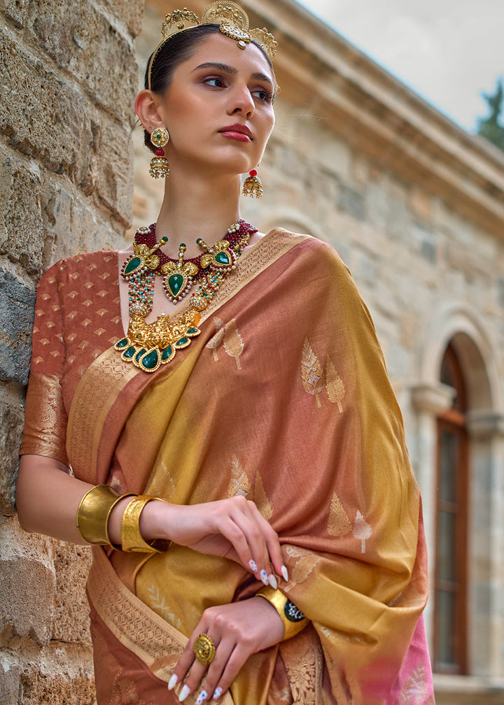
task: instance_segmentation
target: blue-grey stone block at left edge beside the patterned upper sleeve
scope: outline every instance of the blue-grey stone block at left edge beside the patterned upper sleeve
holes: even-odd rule
[[[27,384],[35,291],[0,269],[0,379]]]

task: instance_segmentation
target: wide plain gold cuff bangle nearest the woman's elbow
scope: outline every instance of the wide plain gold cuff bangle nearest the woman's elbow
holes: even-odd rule
[[[115,505],[131,494],[119,494],[109,485],[92,487],[80,500],[76,515],[78,532],[89,544],[112,546],[110,542],[108,522]]]

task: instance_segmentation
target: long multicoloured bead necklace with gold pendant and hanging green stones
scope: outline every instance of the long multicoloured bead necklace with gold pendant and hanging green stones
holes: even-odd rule
[[[154,302],[155,268],[149,263],[155,263],[155,252],[166,240],[162,238],[160,243],[156,243],[150,250],[145,250],[141,255],[142,264],[145,266],[138,266],[135,276],[128,277],[130,314],[128,333],[114,345],[115,350],[121,354],[121,359],[124,362],[132,362],[143,372],[155,372],[160,365],[171,362],[177,350],[191,345],[192,338],[196,338],[201,332],[198,329],[200,312],[208,307],[222,283],[234,271],[236,258],[248,245],[251,233],[255,232],[256,228],[248,226],[245,228],[243,237],[236,243],[229,245],[225,242],[227,251],[232,253],[230,258],[232,266],[222,266],[222,257],[218,256],[222,252],[222,240],[215,243],[212,248],[198,238],[198,244],[206,250],[206,255],[203,257],[207,258],[205,262],[208,261],[209,271],[201,279],[198,289],[191,295],[188,311],[174,320],[170,319],[169,314],[164,314],[158,316],[152,323],[145,321],[152,311]]]

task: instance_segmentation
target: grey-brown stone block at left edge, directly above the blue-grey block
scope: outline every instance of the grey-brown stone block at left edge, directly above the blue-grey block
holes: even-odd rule
[[[41,185],[35,166],[21,163],[0,147],[0,252],[20,262],[29,274],[37,274],[42,266]]]

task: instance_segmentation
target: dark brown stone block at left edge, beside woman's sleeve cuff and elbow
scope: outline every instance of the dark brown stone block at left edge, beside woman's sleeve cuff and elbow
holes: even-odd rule
[[[19,447],[23,433],[23,405],[0,401],[0,513],[15,513],[14,497],[18,474]]]

